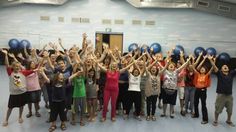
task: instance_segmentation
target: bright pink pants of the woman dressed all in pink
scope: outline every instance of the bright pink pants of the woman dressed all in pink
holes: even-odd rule
[[[116,116],[116,100],[119,94],[119,90],[104,90],[103,96],[103,111],[102,117],[106,118],[107,115],[107,107],[109,100],[111,98],[111,118]]]

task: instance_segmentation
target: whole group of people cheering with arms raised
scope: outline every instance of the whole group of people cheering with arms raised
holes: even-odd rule
[[[216,59],[211,55],[201,53],[194,57],[180,52],[178,59],[174,59],[172,50],[163,57],[161,53],[154,54],[153,49],[150,53],[137,49],[121,54],[118,49],[110,49],[106,44],[100,53],[93,49],[86,34],[83,34],[81,49],[74,45],[67,50],[58,39],[57,44],[49,43],[39,53],[26,48],[24,54],[9,53],[5,49],[1,52],[5,55],[10,90],[3,126],[8,125],[12,109],[16,107],[20,111],[18,121],[22,123],[25,104],[28,105],[27,118],[33,115],[32,105],[35,116],[40,117],[41,94],[45,107],[50,110],[49,131],[56,129],[58,115],[62,130],[67,129],[66,121],[76,125],[76,116],[81,126],[85,125],[85,120],[95,121],[99,111],[102,111],[100,121],[105,122],[109,101],[113,122],[120,113],[128,120],[132,109],[137,120],[141,121],[142,116],[146,115],[147,121],[156,121],[156,106],[163,110],[161,117],[168,115],[174,118],[177,96],[180,114],[185,116],[190,113],[192,118],[199,117],[198,104],[201,100],[201,124],[207,124],[206,99],[212,72],[218,78],[213,125],[218,125],[218,116],[226,107],[226,123],[234,126],[231,121],[232,87],[236,70],[230,70],[227,64],[218,69]],[[206,60],[210,66],[206,65]]]

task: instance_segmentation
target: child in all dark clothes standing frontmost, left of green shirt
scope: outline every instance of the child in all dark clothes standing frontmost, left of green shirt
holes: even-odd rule
[[[49,78],[41,70],[41,74],[45,80],[49,83]],[[61,130],[66,130],[66,81],[64,75],[60,72],[56,73],[52,83],[52,102],[51,102],[51,112],[50,112],[50,122],[51,126],[49,132],[53,132],[56,129],[57,116],[61,119]]]

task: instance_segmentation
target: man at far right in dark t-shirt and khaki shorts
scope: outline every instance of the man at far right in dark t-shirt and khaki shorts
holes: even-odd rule
[[[210,59],[210,62],[213,65],[214,71],[216,72],[216,76],[218,78],[216,89],[217,97],[215,101],[215,120],[213,122],[213,125],[218,125],[218,117],[223,111],[224,107],[226,107],[228,117],[226,123],[231,127],[235,127],[234,123],[231,120],[231,117],[233,112],[233,78],[236,75],[236,69],[229,70],[228,65],[223,64],[221,69],[219,70],[213,62],[212,56],[209,56],[208,58]]]

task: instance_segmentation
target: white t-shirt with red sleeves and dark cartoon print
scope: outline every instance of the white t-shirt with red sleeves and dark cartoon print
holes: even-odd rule
[[[21,70],[15,73],[12,68],[7,67],[7,74],[10,80],[9,91],[11,95],[19,95],[27,91],[25,76],[30,75],[31,73],[33,73],[32,70]]]

